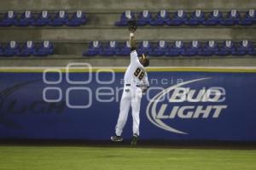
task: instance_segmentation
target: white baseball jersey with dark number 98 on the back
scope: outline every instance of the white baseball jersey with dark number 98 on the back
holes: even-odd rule
[[[149,86],[148,75],[137,57],[137,51],[131,51],[131,62],[125,71],[125,84]]]

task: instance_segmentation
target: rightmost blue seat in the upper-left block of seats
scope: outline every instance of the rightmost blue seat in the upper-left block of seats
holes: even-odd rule
[[[81,25],[84,25],[85,23],[86,23],[85,14],[81,10],[78,10],[72,15],[72,17],[69,20],[67,20],[66,25],[81,26]]]

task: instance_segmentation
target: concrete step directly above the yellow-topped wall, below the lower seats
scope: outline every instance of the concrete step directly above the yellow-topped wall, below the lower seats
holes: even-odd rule
[[[90,63],[92,66],[127,66],[130,57],[81,57],[80,55],[53,55],[48,57],[0,58],[0,66],[66,66],[69,63]],[[151,66],[255,66],[256,57],[155,57]]]

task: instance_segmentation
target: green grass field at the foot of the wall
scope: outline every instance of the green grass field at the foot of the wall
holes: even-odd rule
[[[256,150],[0,146],[0,169],[254,170]]]

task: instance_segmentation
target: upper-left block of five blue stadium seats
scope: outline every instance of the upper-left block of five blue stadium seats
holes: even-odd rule
[[[8,11],[0,20],[0,26],[82,26],[85,24],[86,16],[81,10],[69,14],[64,10],[60,10],[56,14],[50,14],[46,10],[39,14],[29,10],[23,14]]]

